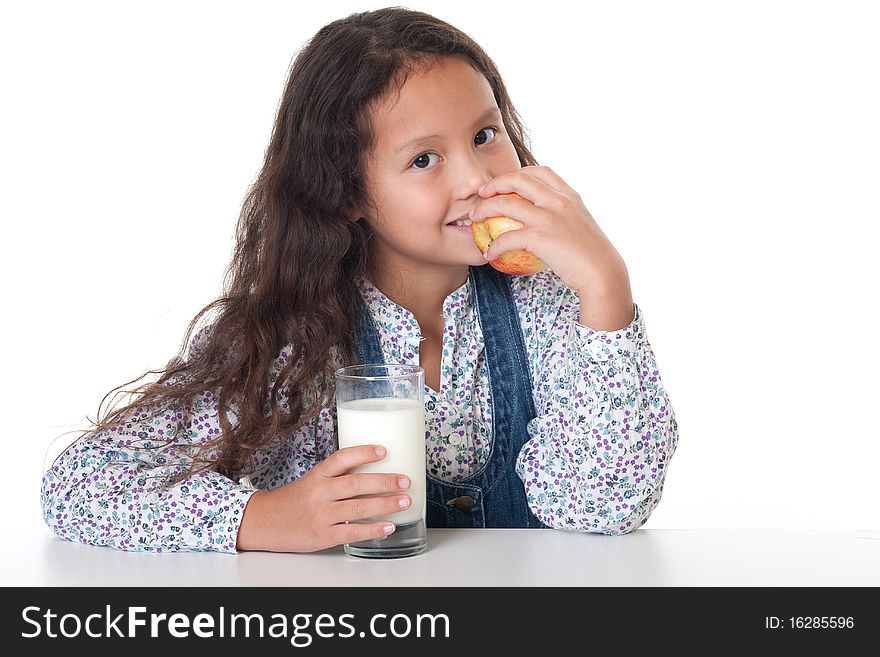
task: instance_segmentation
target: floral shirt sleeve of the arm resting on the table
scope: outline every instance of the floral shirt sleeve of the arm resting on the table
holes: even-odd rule
[[[219,421],[210,392],[192,408],[143,412],[71,445],[43,476],[46,524],[70,541],[141,552],[236,552],[244,509],[256,488],[205,471],[171,485]],[[165,448],[165,449],[163,449]]]

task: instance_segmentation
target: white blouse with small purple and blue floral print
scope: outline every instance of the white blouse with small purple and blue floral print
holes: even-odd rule
[[[597,331],[578,322],[580,301],[551,270],[511,277],[537,417],[527,426],[516,471],[529,506],[556,529],[623,534],[660,501],[678,425],[633,304],[632,322]],[[419,364],[415,316],[369,280],[358,285],[379,332],[385,362]],[[477,471],[492,445],[488,366],[470,278],[443,303],[440,389],[425,386],[428,471],[457,481]],[[196,336],[196,340],[198,336]],[[289,345],[276,372],[290,356]],[[169,440],[199,443],[220,431],[216,397],[190,408],[141,412],[71,445],[43,476],[46,523],[62,538],[122,550],[236,553],[245,506],[259,489],[302,476],[335,448],[335,407],[257,452],[240,481],[198,473],[173,486],[164,475],[187,465]],[[160,451],[160,447],[166,449]]]

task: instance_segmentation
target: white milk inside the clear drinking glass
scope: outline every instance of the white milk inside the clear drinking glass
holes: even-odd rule
[[[355,445],[384,445],[388,453],[381,461],[358,466],[352,472],[393,472],[412,481],[406,494],[408,509],[370,520],[391,520],[397,525],[420,520],[425,515],[425,405],[415,399],[374,397],[355,399],[336,408],[339,448]]]

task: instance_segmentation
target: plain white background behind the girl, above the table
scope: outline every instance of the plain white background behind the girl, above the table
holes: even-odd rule
[[[626,260],[681,432],[646,528],[880,528],[872,5],[406,5],[486,49]],[[4,542],[220,292],[292,58],[382,6],[3,6]]]

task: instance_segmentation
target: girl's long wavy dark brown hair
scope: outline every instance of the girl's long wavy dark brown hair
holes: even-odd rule
[[[102,418],[104,398],[87,436],[150,409],[187,408],[212,391],[222,431],[193,446],[188,472],[176,479],[207,468],[239,479],[255,450],[333,403],[335,369],[357,362],[351,312],[356,277],[368,274],[370,228],[347,212],[375,207],[366,192],[369,108],[442,56],[462,57],[486,77],[520,164],[537,164],[495,64],[460,30],[402,7],[322,27],[291,66],[262,169],[242,203],[223,293],[192,319],[165,369],[148,372],[157,381],[125,390],[134,401]]]

